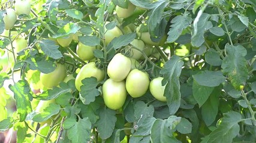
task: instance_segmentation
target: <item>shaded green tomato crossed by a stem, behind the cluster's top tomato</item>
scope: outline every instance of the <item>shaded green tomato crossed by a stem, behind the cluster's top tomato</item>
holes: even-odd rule
[[[140,49],[141,51],[143,51],[143,49],[145,48],[145,44],[143,41],[139,40],[139,39],[134,39],[131,42],[132,46],[135,46],[136,48]],[[127,49],[130,48],[129,46],[127,46]],[[135,60],[140,59],[140,57],[142,56],[142,53],[140,51],[138,51],[137,49],[131,48],[131,54],[130,54],[130,58],[134,58]]]

